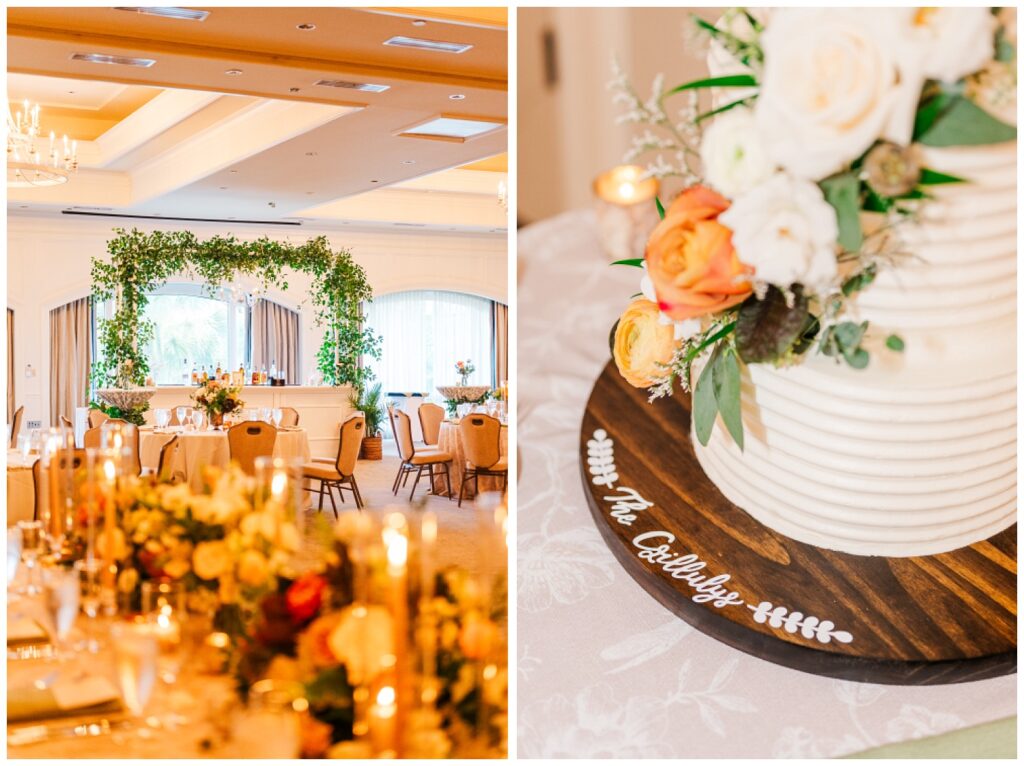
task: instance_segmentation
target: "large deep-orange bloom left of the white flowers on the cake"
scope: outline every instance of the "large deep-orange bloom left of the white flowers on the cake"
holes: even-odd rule
[[[659,308],[677,322],[742,303],[751,294],[736,258],[732,231],[718,222],[729,207],[721,195],[690,186],[665,214],[647,241],[647,273]]]

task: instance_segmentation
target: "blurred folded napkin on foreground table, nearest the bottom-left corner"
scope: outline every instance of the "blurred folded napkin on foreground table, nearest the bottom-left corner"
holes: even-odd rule
[[[101,676],[58,677],[48,686],[33,683],[7,689],[8,721],[90,715],[120,709],[118,690]]]

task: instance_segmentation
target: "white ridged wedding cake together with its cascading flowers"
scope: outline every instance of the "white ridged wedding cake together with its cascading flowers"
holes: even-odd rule
[[[630,383],[692,390],[729,501],[860,555],[1016,520],[1016,18],[925,10],[702,25],[712,77],[672,91],[714,89],[702,175],[614,336]]]

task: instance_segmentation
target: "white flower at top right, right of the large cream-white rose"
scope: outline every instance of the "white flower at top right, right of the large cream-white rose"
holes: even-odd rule
[[[900,78],[886,138],[905,145],[925,81],[953,83],[983,69],[994,53],[997,20],[981,7],[880,8],[874,13]]]

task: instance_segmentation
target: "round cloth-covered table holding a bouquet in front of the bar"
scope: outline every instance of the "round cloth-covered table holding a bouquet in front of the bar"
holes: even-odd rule
[[[157,431],[143,429],[139,433],[139,452],[142,467],[157,469],[160,464],[160,450],[174,435],[178,436],[178,448],[170,470],[172,475],[182,476],[193,490],[203,488],[203,466],[225,467],[230,462],[226,431],[179,431],[173,428]],[[273,457],[298,458],[308,463],[309,438],[304,428],[278,431],[273,443]]]

